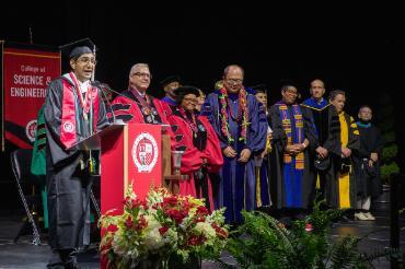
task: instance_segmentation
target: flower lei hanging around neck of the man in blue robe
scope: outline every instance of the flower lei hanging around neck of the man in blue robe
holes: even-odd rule
[[[227,138],[228,143],[231,144],[234,142],[234,139],[232,138],[231,133],[229,132],[229,122],[228,122],[228,112],[227,107],[230,107],[229,104],[229,97],[227,89],[221,87],[219,95],[219,101],[221,103],[221,132]],[[243,141],[246,143],[246,136],[247,136],[247,126],[248,126],[248,113],[247,113],[247,93],[244,87],[242,87],[239,91],[239,107],[238,107],[238,118],[234,118],[232,115],[232,110],[229,109],[229,113],[233,120],[236,120],[238,122],[241,122],[242,129],[241,129],[241,137],[239,138],[240,141]]]

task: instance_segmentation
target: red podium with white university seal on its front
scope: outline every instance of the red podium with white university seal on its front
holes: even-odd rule
[[[101,213],[116,209],[121,214],[129,184],[138,198],[151,186],[166,186],[171,174],[171,141],[165,125],[113,124],[73,145],[101,150]]]

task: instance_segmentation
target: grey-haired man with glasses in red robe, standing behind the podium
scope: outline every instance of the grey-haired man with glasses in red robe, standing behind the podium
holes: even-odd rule
[[[113,101],[114,115],[111,116],[124,122],[167,125],[161,101],[147,94],[151,79],[147,63],[135,65],[129,71],[128,90]]]

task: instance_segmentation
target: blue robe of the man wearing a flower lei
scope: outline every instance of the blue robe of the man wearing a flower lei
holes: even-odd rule
[[[229,131],[234,139],[231,144],[221,132],[220,92],[209,94],[204,105],[202,115],[208,116],[220,140],[221,149],[231,145],[238,155],[233,159],[223,157],[224,164],[220,171],[221,183],[218,191],[217,207],[225,207],[225,218],[229,223],[241,223],[241,210],[255,209],[255,167],[254,155],[259,154],[266,147],[267,119],[264,109],[259,108],[256,97],[247,95],[248,127],[246,143],[240,141],[241,126],[233,121],[228,110]],[[230,94],[230,108],[238,115],[239,95]],[[252,154],[247,163],[239,163],[238,159],[243,149],[250,149]]]

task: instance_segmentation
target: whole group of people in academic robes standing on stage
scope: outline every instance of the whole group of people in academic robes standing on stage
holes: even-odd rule
[[[381,191],[384,142],[371,124],[369,106],[360,107],[358,121],[345,113],[344,91],[332,91],[326,98],[323,81],[314,80],[311,97],[299,103],[299,89],[286,83],[271,92],[280,98],[268,106],[268,89],[244,86],[243,68],[230,65],[207,96],[171,75],[161,81],[165,97],[159,100],[148,93],[149,66],[136,63],[128,89],[109,102],[111,92],[91,82],[94,52],[74,47],[69,60],[71,72],[50,83],[43,108],[55,254],[49,268],[77,268],[77,250],[89,244],[96,154],[72,145],[117,120],[170,125],[171,148],[184,152],[181,173],[188,175],[178,194],[204,198],[211,211],[225,208],[230,224],[243,221],[242,210],[273,208],[282,217],[300,218],[316,196],[329,208],[356,209],[358,220],[374,220],[370,204]]]

